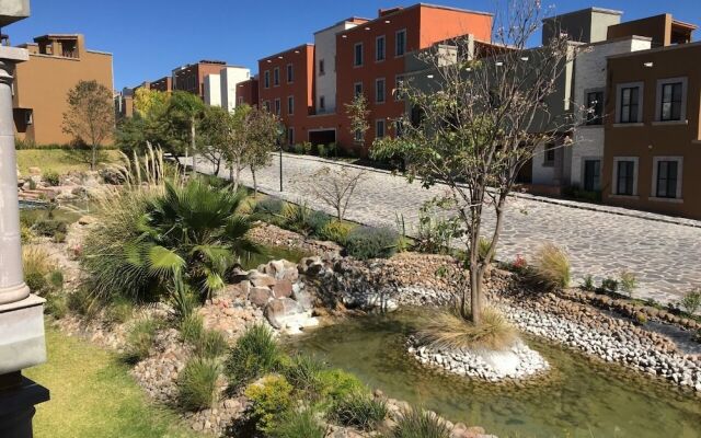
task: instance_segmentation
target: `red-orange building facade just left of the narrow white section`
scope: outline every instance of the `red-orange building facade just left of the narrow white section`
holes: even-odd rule
[[[314,46],[303,44],[258,60],[258,102],[287,127],[287,143],[307,141],[314,105]]]

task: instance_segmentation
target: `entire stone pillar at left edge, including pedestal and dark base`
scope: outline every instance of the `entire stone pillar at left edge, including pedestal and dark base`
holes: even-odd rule
[[[0,1],[2,8],[9,2]],[[0,18],[2,15],[0,13]],[[2,20],[0,20],[1,22]],[[25,49],[0,46],[0,437],[31,438],[35,405],[48,390],[22,376],[46,361],[44,299],[30,293],[22,272],[12,74]]]

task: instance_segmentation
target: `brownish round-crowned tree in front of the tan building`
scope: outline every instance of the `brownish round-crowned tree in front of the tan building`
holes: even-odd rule
[[[91,148],[90,169],[94,170],[97,148],[115,130],[112,92],[97,81],[80,81],[68,92],[64,132],[85,141]]]

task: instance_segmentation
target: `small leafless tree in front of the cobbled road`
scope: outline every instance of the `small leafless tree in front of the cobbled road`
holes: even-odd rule
[[[323,166],[311,175],[308,186],[317,199],[336,211],[336,219],[343,220],[355,189],[364,175],[364,171],[354,172],[346,168],[336,171]]]

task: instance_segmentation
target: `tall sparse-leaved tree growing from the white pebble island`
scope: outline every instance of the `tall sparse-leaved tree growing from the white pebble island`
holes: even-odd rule
[[[402,87],[413,117],[400,120],[401,136],[377,140],[371,149],[377,159],[402,157],[406,176],[422,178],[424,186],[448,186],[446,200],[461,224],[456,238],[469,249],[470,287],[461,293],[461,312],[474,324],[481,323],[484,274],[519,171],[539,146],[566,145],[574,128],[556,95],[574,46],[555,35],[542,47],[527,48],[543,19],[540,1],[509,0],[499,10],[506,13],[495,19],[493,43],[464,37],[452,48],[420,55],[429,74],[425,70]],[[560,110],[552,111],[558,102]],[[495,227],[483,237],[490,209]],[[481,239],[489,244],[482,255]]]

